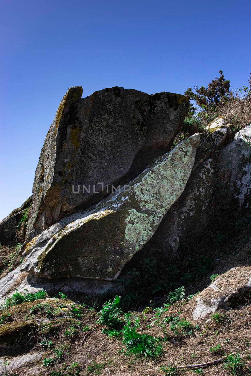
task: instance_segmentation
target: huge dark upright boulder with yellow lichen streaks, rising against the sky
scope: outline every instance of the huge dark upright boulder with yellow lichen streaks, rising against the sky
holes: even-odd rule
[[[81,96],[81,86],[68,89],[44,141],[27,240],[99,201],[106,194],[103,186],[127,173],[134,178],[166,153],[189,108],[186,97],[166,92],[114,87]],[[73,186],[78,191],[83,185],[88,192],[73,193]]]

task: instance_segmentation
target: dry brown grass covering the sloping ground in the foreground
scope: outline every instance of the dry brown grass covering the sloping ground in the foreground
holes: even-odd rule
[[[51,305],[56,306],[62,304],[62,299],[59,300],[39,300],[33,303],[23,303],[20,306],[12,307],[9,313],[12,318],[17,321],[27,320],[25,316],[29,314],[29,309],[32,305],[37,303],[49,302]],[[65,305],[68,306],[72,302],[65,300]],[[80,366],[79,375],[111,375],[111,376],[139,376],[139,375],[163,375],[160,372],[160,365],[167,365],[172,363],[174,366],[198,364],[213,361],[220,356],[217,353],[210,352],[210,348],[218,344],[221,345],[225,354],[232,352],[239,352],[244,358],[245,363],[249,366],[250,351],[251,351],[251,305],[245,306],[241,309],[233,309],[226,314],[226,320],[223,323],[216,324],[214,321],[206,323],[208,317],[201,320],[193,321],[189,315],[186,304],[176,303],[170,309],[161,315],[160,320],[156,320],[155,312],[151,314],[140,314],[140,327],[141,333],[153,335],[155,337],[166,338],[163,342],[163,358],[159,362],[148,358],[141,358],[135,355],[126,355],[123,349],[123,344],[120,339],[109,338],[102,332],[104,328],[102,325],[96,323],[96,312],[88,312],[81,318],[82,325],[90,327],[90,335],[86,336],[87,332],[82,332],[78,329],[78,334],[74,338],[64,336],[64,331],[69,324],[78,324],[78,320],[67,317],[55,317],[49,322],[52,323],[50,328],[47,324],[48,330],[44,329],[46,324],[39,324],[46,322],[43,315],[35,315],[38,322],[39,332],[35,333],[34,338],[27,338],[27,346],[19,346],[17,343],[16,349],[8,350],[2,349],[2,356],[6,359],[11,359],[14,355],[23,355],[27,352],[36,353],[43,352],[43,358],[50,358],[53,356],[52,350],[43,348],[39,345],[42,338],[47,337],[55,343],[56,347],[67,346],[65,349],[64,362],[67,365],[73,362],[78,362]],[[139,315],[139,312],[134,312]],[[190,320],[192,325],[199,325],[199,330],[195,330],[192,335],[176,335],[170,331],[169,323],[164,323],[164,317],[175,315],[186,320]],[[154,322],[154,324],[152,324]],[[19,346],[19,347],[18,347]],[[66,354],[68,352],[68,355]],[[98,371],[89,371],[90,365],[102,365]],[[62,362],[57,362],[53,367],[42,367],[42,361],[35,364],[36,368],[32,369],[32,365],[21,367],[17,370],[18,376],[32,376],[34,374],[49,376],[53,370],[62,368]],[[38,370],[40,369],[40,371]],[[62,373],[64,374],[64,373]],[[194,375],[193,369],[180,370],[179,375]],[[203,374],[208,376],[227,376],[227,371],[224,370],[223,364],[218,363],[203,368]]]

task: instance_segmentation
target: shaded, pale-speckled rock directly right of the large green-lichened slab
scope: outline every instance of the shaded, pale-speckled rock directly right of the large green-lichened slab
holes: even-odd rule
[[[178,209],[167,214],[157,230],[159,247],[167,258],[179,258],[183,248],[207,226],[204,212],[213,188],[213,160],[208,159],[192,171],[178,200]]]

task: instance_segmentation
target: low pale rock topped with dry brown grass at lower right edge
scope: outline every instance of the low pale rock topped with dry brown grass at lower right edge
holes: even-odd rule
[[[250,299],[250,294],[251,266],[231,268],[198,294],[193,320],[205,317],[218,309],[243,306]]]

